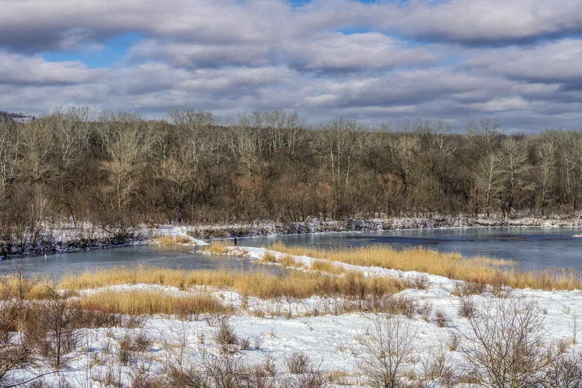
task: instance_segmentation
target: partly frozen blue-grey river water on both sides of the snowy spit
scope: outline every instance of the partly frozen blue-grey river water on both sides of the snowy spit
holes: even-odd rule
[[[496,227],[396,230],[392,232],[324,233],[299,236],[253,237],[238,239],[238,245],[260,247],[274,241],[288,245],[354,247],[391,244],[395,248],[422,245],[431,250],[453,251],[471,257],[488,255],[520,262],[521,269],[534,270],[573,267],[582,271],[582,227]],[[253,266],[249,259],[191,253],[191,246],[159,247],[129,245],[88,251],[50,254],[0,260],[0,273],[22,266],[27,275],[38,273],[59,277],[63,273],[93,270],[104,266],[148,264],[171,268],[236,268]]]

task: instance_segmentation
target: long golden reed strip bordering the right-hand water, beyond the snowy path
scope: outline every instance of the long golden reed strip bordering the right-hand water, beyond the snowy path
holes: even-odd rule
[[[403,271],[416,270],[449,279],[474,283],[505,284],[513,288],[542,290],[582,289],[582,274],[574,269],[548,268],[534,272],[521,272],[513,261],[488,257],[464,258],[460,254],[433,252],[422,247],[395,250],[387,245],[370,245],[354,248],[287,247],[275,243],[269,250],[290,255],[308,256],[329,261],[339,261],[359,266],[378,266]]]

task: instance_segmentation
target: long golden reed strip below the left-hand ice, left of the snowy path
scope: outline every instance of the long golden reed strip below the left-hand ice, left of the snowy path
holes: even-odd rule
[[[70,290],[95,289],[97,287],[127,283],[164,284],[179,289],[194,286],[211,286],[218,289],[236,290],[240,294],[260,298],[295,297],[314,295],[382,296],[399,292],[409,286],[404,279],[368,278],[350,272],[345,276],[285,270],[278,275],[268,271],[236,270],[180,270],[138,266],[137,268],[108,268],[78,275],[69,273],[59,287]]]

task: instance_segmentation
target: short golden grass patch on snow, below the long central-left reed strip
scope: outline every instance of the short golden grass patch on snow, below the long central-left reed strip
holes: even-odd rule
[[[174,314],[186,317],[233,311],[208,294],[176,296],[163,290],[101,290],[81,297],[79,302],[83,310],[130,315]]]

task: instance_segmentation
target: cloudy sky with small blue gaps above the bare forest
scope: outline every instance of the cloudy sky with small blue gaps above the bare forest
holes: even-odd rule
[[[2,0],[0,111],[582,127],[578,0]]]

